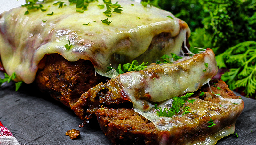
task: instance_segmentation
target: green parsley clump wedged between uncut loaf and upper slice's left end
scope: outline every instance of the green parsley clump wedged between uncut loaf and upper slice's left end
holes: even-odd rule
[[[148,62],[147,62],[148,63]],[[115,70],[119,73],[119,74],[123,74],[129,71],[139,71],[139,70],[145,70],[147,66],[145,66],[145,64],[147,63],[142,63],[140,65],[139,62],[137,62],[137,60],[133,60],[132,63],[126,63],[123,65],[123,67],[121,68],[121,64],[118,65],[118,68],[116,68]],[[114,68],[108,67],[107,72],[109,72],[110,70],[112,70]]]

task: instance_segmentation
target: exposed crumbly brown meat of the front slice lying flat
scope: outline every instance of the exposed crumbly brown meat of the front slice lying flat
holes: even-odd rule
[[[223,81],[212,80],[210,82],[210,86],[214,93],[220,94],[223,98],[237,99],[240,97],[236,96],[230,89],[228,89],[228,86]],[[125,100],[119,100],[116,101],[116,105],[114,105],[111,95],[108,92],[109,91],[105,90],[98,93],[94,102],[90,102],[90,99],[87,98],[87,101],[84,102],[87,103],[86,105],[89,105],[89,108],[85,108],[87,110],[84,110],[85,114],[83,115],[88,115],[88,113],[95,114],[103,133],[108,137],[112,144],[155,145],[160,144],[163,136],[168,138],[168,144],[185,144],[185,142],[182,141],[186,141],[187,138],[196,138],[199,140],[202,137],[202,134],[205,133],[205,128],[208,128],[207,132],[209,134],[213,134],[216,132],[216,128],[224,128],[230,125],[227,118],[223,116],[220,119],[221,123],[219,123],[219,127],[208,127],[207,121],[210,120],[209,117],[201,120],[201,129],[199,129],[199,132],[198,128],[195,129],[193,126],[189,126],[187,128],[180,129],[182,133],[177,133],[175,136],[168,135],[168,133],[165,134],[163,131],[158,131],[151,121],[144,118],[137,112],[134,112],[132,109],[132,103],[128,105],[129,103]],[[201,94],[201,92],[205,92],[206,95],[200,97],[199,94]],[[191,97],[196,97],[210,102],[220,101],[218,100],[218,97],[215,97],[215,95],[210,91],[207,84],[194,92],[194,95]],[[126,104],[124,102],[126,102]],[[184,136],[184,134],[186,135]]]

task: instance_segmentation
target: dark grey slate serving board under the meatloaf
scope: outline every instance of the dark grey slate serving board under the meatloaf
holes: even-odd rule
[[[42,94],[35,85],[22,85],[18,92],[14,90],[13,83],[0,88],[0,120],[21,145],[110,145],[97,120],[78,128],[82,121],[74,112]],[[219,140],[217,145],[256,144],[256,101],[242,99],[244,110],[236,122],[235,131],[239,137],[229,135]],[[81,134],[76,140],[65,135],[73,128]]]

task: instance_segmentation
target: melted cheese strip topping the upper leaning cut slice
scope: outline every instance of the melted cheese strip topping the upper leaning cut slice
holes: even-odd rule
[[[208,63],[208,67],[205,67]],[[203,70],[206,69],[206,72]],[[212,50],[186,57],[173,64],[148,66],[148,70],[121,74],[120,86],[134,108],[147,111],[154,104],[186,92],[193,92],[217,74]]]

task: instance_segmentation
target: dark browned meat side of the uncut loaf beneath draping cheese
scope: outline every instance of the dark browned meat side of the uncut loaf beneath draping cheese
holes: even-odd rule
[[[84,92],[106,79],[95,74],[90,61],[69,62],[59,54],[49,54],[39,63],[35,82],[42,91],[69,107]]]

